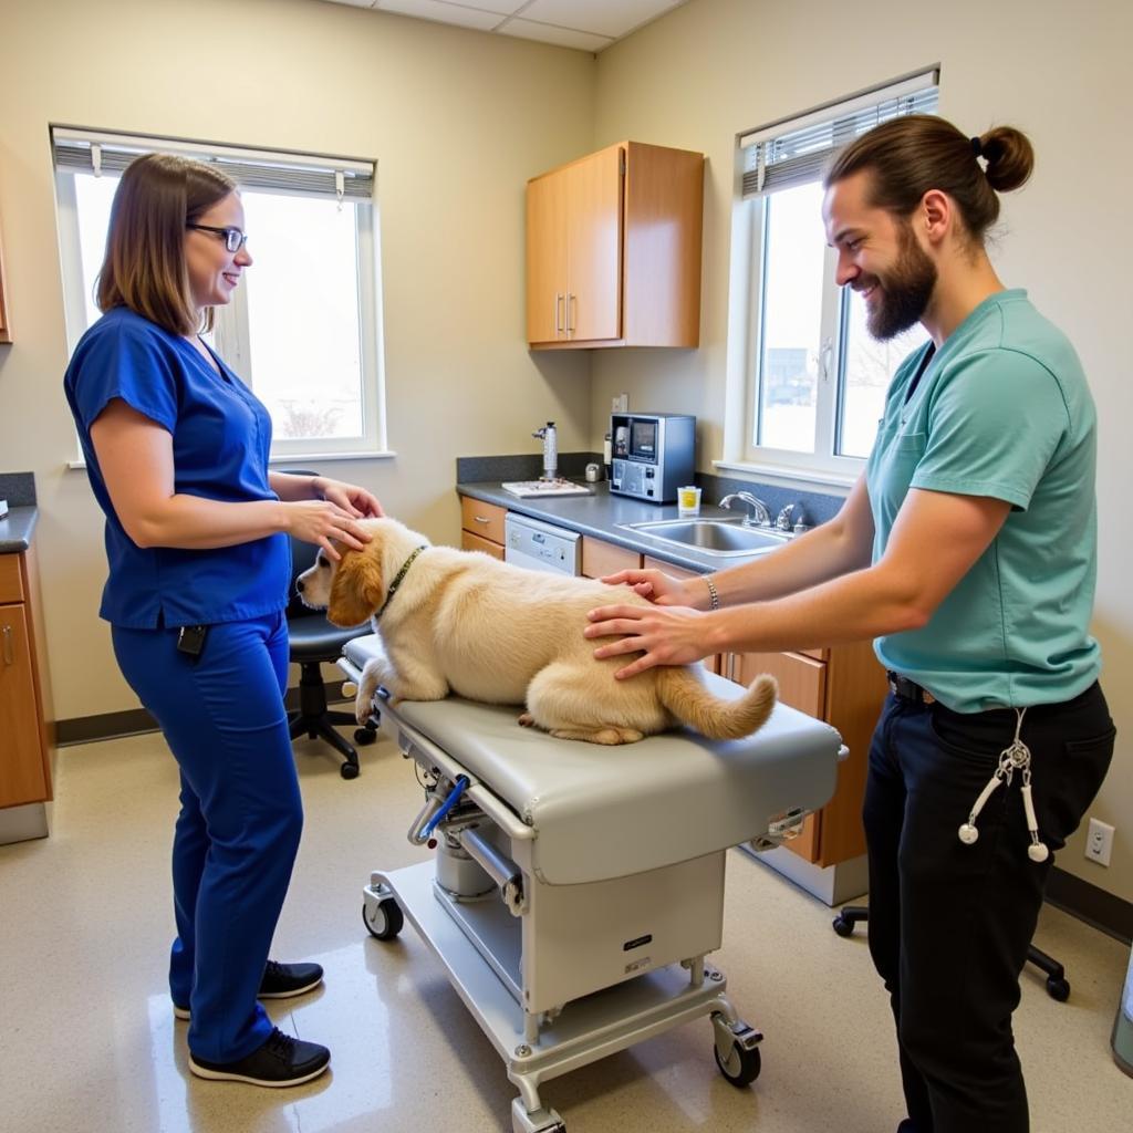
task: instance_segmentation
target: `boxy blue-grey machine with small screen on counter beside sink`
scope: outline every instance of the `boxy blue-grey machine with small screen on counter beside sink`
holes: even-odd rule
[[[684,414],[614,414],[610,418],[610,491],[672,503],[696,471],[697,419]]]

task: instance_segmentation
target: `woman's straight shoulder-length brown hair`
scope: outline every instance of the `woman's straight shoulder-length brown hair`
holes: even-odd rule
[[[202,330],[189,292],[185,229],[235,189],[230,177],[198,161],[164,153],[131,161],[110,207],[99,309],[129,307],[172,334]],[[205,312],[205,330],[212,314]]]

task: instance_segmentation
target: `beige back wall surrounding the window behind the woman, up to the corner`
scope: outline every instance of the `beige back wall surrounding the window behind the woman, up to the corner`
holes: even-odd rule
[[[458,537],[458,455],[537,453],[531,431],[550,419],[564,450],[586,445],[588,358],[533,357],[523,341],[523,190],[590,147],[590,56],[309,0],[0,8],[0,224],[16,339],[0,347],[0,470],[35,472],[59,718],[137,700],[95,616],[101,513],[85,474],[66,468],[76,451],[49,122],[377,159],[398,455],[323,468],[429,537]]]

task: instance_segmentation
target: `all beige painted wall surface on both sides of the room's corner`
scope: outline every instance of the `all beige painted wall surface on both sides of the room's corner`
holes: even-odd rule
[[[94,616],[101,517],[74,437],[48,123],[67,122],[378,160],[386,389],[398,458],[329,465],[407,521],[453,539],[457,455],[596,448],[610,397],[695,412],[700,467],[723,433],[734,134],[921,65],[943,65],[942,112],[972,133],[1029,130],[1033,182],[1005,198],[997,261],[1074,339],[1101,416],[1096,632],[1121,730],[1092,812],[1118,827],[1109,870],[1081,837],[1059,864],[1133,900],[1130,261],[1124,137],[1128,6],[955,0],[946,18],[896,0],[691,0],[608,49],[581,52],[308,0],[7,2],[0,67],[0,225],[16,343],[0,347],[0,470],[33,470],[58,715],[134,707]],[[223,29],[231,50],[215,37]],[[708,155],[697,351],[531,356],[523,344],[526,179],[622,137]],[[301,306],[301,297],[297,297]],[[593,377],[591,377],[593,370]],[[593,389],[591,389],[593,386]],[[1123,825],[1124,823],[1124,825]]]

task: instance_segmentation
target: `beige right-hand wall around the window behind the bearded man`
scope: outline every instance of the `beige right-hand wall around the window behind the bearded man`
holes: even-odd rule
[[[691,0],[598,57],[595,144],[622,137],[704,151],[701,346],[697,351],[605,351],[594,358],[591,436],[612,394],[630,406],[693,412],[699,467],[721,457],[734,135],[875,83],[942,65],[940,113],[972,134],[1025,129],[1036,176],[1004,197],[994,252],[1008,286],[1026,287],[1071,335],[1098,402],[1100,570],[1094,632],[1118,726],[1109,778],[1091,813],[1117,826],[1113,864],[1082,857],[1082,835],[1058,864],[1133,900],[1133,560],[1128,491],[1133,415],[1128,377],[1125,220],[1133,155],[1126,45],[1133,6],[1087,0],[954,0],[946,10],[897,0]],[[1116,143],[1116,144],[1115,144]],[[1021,407],[1025,411],[1025,407]],[[957,823],[960,818],[957,817]],[[1023,852],[1023,847],[1020,847]]]

